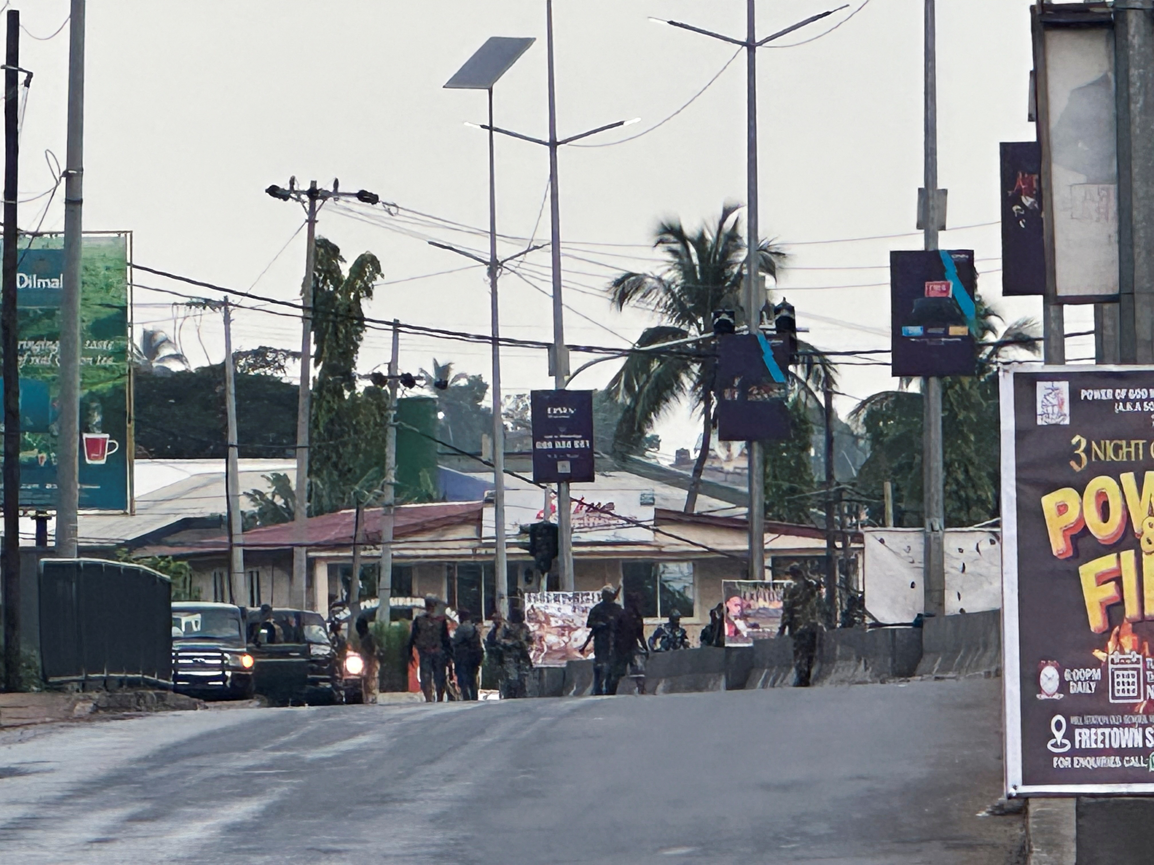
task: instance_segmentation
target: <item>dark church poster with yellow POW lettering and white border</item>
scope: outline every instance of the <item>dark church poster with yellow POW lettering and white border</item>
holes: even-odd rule
[[[1007,791],[1154,792],[1154,368],[1001,385]]]

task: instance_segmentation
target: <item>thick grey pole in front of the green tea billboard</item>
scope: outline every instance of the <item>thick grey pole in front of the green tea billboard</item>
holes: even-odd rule
[[[57,555],[76,557],[80,509],[80,280],[84,208],[84,0],[68,21],[68,152],[65,158],[65,272],[60,299],[60,436],[57,439]]]

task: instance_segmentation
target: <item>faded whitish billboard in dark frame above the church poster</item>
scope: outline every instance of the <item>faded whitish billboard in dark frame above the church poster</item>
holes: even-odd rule
[[[1118,158],[1110,14],[1061,8],[1040,14],[1037,7],[1034,14],[1042,205],[1054,291],[1064,303],[1116,300]]]

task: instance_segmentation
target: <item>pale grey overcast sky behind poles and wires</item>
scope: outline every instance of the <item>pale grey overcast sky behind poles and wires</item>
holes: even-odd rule
[[[797,307],[810,341],[839,351],[889,347],[887,253],[921,247],[914,219],[922,179],[922,0],[850,2],[758,55],[760,221],[763,234],[790,254],[775,295]],[[767,35],[831,6],[763,0],[759,27]],[[22,23],[38,37],[68,14],[67,0],[10,7],[21,8]],[[613,311],[605,286],[620,270],[660,266],[647,248],[658,219],[695,227],[715,219],[722,202],[744,201],[743,57],[669,122],[612,144],[682,107],[735,51],[649,16],[742,36],[744,8],[741,0],[555,0],[559,134],[642,118],[587,142],[607,146],[561,153],[568,343],[624,346],[652,323],[640,311]],[[937,27],[939,179],[950,190],[954,228],[942,245],[975,250],[980,291],[1007,319],[1037,318],[1040,299],[1001,300],[996,225],[998,142],[1034,137],[1026,120],[1028,0],[939,0]],[[339,178],[342,189],[367,188],[406,209],[397,218],[364,205],[322,211],[320,234],[349,261],[365,250],[381,258],[384,284],[369,315],[486,333],[484,268],[437,274],[467,261],[426,240],[485,247],[484,238],[444,221],[487,225],[485,135],[464,126],[484,121],[485,95],[442,84],[489,36],[537,37],[499,83],[496,116],[499,126],[545,137],[544,0],[90,2],[84,227],[132,230],[140,264],[293,299],[304,216],[263,189],[290,175],[324,186]],[[35,72],[21,144],[27,198],[52,187],[44,151],[63,161],[68,29],[47,40],[24,38],[21,52],[21,65]],[[502,233],[547,239],[547,175],[545,148],[499,141]],[[44,231],[62,228],[62,197],[61,188],[43,216]],[[22,227],[37,227],[45,201],[22,205]],[[501,254],[524,242],[504,241]],[[503,277],[505,336],[552,339],[548,268],[541,250],[520,276]],[[145,286],[205,293],[137,277]],[[179,334],[194,363],[219,362],[218,318],[188,318],[171,306],[179,299],[140,285],[134,296],[137,333],[160,328]],[[1091,321],[1089,307],[1072,308],[1066,330],[1085,330]],[[238,349],[299,344],[291,318],[238,316]],[[389,336],[369,331],[361,366],[385,362],[388,351]],[[406,334],[400,366],[415,371],[433,358],[451,360],[488,379],[488,351]],[[1072,359],[1092,354],[1091,338],[1067,344]],[[507,394],[552,385],[544,352],[505,348],[502,356]],[[574,386],[601,386],[615,366],[593,367]],[[839,412],[896,384],[887,367],[844,367],[840,390],[848,396],[839,398]],[[688,409],[670,413],[658,430],[662,451],[691,445],[697,428]]]

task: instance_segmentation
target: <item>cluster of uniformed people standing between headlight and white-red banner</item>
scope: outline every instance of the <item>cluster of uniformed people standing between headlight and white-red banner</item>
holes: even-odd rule
[[[450,663],[459,699],[478,699],[478,679],[486,656],[496,670],[501,697],[525,697],[529,671],[533,669],[529,656],[532,637],[525,614],[514,609],[505,620],[500,611],[494,612],[493,626],[484,644],[481,629],[470,610],[457,610],[457,620],[456,629],[450,632],[449,617],[432,595],[425,599],[425,610],[413,617],[405,656],[412,657],[417,652],[426,702],[444,700]]]

